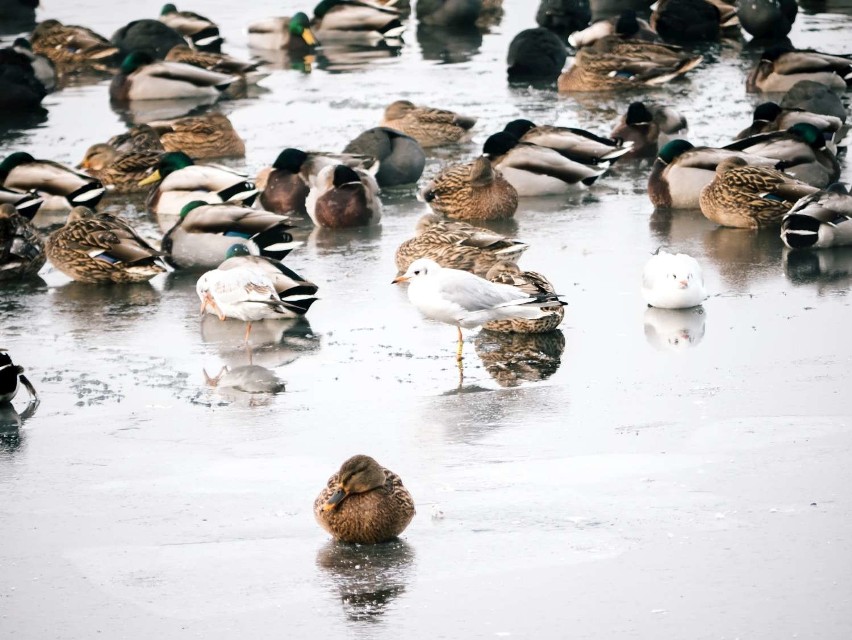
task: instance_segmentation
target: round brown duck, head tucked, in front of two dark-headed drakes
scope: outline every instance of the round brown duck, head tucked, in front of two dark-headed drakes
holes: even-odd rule
[[[501,220],[518,209],[517,189],[486,156],[445,168],[419,197],[436,213],[457,220]]]

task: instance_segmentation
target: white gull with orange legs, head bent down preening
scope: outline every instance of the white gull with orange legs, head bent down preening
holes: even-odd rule
[[[198,279],[195,292],[201,300],[202,315],[206,312],[220,320],[232,318],[246,323],[245,344],[253,322],[303,316],[314,301],[301,294],[281,297],[272,279],[251,264],[206,271]]]

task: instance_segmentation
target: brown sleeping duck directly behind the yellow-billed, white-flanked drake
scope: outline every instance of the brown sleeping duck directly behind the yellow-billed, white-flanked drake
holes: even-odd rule
[[[193,158],[242,157],[246,144],[227,116],[206,113],[149,123],[166,151],[183,151]]]

